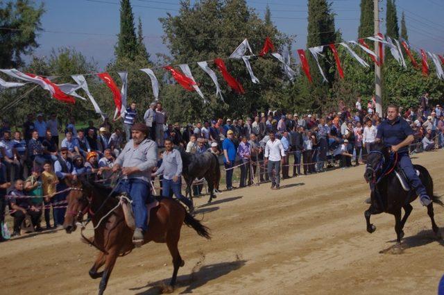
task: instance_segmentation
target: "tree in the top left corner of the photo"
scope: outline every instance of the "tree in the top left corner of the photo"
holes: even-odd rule
[[[43,13],[43,3],[36,7],[30,0],[0,1],[0,68],[23,65],[22,55],[38,47]]]

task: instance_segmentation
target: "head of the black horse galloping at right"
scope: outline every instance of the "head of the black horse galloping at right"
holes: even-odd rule
[[[364,172],[364,179],[369,181],[376,181],[382,174],[382,169],[390,156],[389,147],[380,142],[372,145],[370,153],[367,155],[366,171]]]

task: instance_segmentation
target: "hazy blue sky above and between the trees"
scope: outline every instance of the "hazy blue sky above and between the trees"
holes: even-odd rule
[[[195,0],[191,0],[193,3]],[[71,47],[89,60],[105,67],[114,58],[114,45],[119,33],[119,0],[37,0],[44,3],[46,12],[37,38],[40,44],[36,56],[48,56],[58,47]],[[336,29],[344,40],[355,40],[359,26],[360,0],[333,0]],[[178,0],[131,0],[135,19],[141,17],[144,42],[152,57],[155,53],[169,53],[162,43],[162,26],[158,20],[167,12],[178,13]],[[272,21],[283,33],[296,35],[292,51],[305,48],[307,41],[307,1],[304,0],[247,0],[250,7],[264,17],[266,5],[271,8]],[[413,47],[435,53],[444,52],[444,1],[397,0],[398,19],[404,11],[409,42]],[[381,31],[385,31],[386,0],[379,2]],[[441,19],[441,20],[440,20]],[[136,25],[137,26],[137,25]],[[248,36],[245,36],[248,38]],[[234,50],[234,48],[233,48]],[[260,49],[253,49],[259,51]],[[227,56],[230,53],[227,53]]]

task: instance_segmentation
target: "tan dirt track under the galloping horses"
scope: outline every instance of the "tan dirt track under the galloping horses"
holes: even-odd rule
[[[416,155],[444,194],[444,151]],[[404,251],[393,245],[394,218],[372,217],[366,232],[368,185],[364,166],[291,178],[275,192],[269,184],[223,192],[198,212],[213,239],[182,228],[175,294],[436,294],[444,273],[443,246],[434,239],[419,201],[404,228]],[[221,185],[225,187],[225,185]],[[444,208],[435,206],[444,226]],[[202,218],[202,215],[197,217]],[[0,244],[2,294],[96,294],[89,278],[96,251],[78,232],[59,230]],[[159,294],[172,273],[165,244],[147,244],[119,258],[106,294]]]

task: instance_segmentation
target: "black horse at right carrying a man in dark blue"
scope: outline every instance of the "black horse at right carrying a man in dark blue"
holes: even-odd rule
[[[395,216],[395,232],[397,236],[398,246],[402,237],[404,237],[405,221],[409,218],[413,207],[410,205],[418,195],[415,190],[410,188],[406,191],[403,188],[398,176],[396,175],[397,155],[390,153],[388,146],[382,143],[373,145],[367,158],[366,172],[364,178],[370,183],[371,189],[371,205],[364,215],[367,222],[368,233],[373,233],[376,227],[370,224],[370,216],[372,214],[379,214],[386,212]],[[433,193],[433,180],[429,171],[421,165],[413,165],[419,171],[419,178],[427,190],[427,194],[432,197],[432,203],[427,206],[427,214],[432,220],[432,229],[436,238],[441,239],[441,233],[438,226],[436,226],[434,219],[433,203],[444,206],[443,202],[438,196]],[[399,174],[402,174],[400,171]],[[402,176],[401,176],[402,177]],[[403,179],[403,178],[402,178]],[[405,187],[406,185],[404,185]],[[407,189],[409,187],[406,187]],[[404,208],[404,216],[401,219],[401,208]]]

